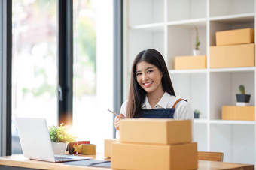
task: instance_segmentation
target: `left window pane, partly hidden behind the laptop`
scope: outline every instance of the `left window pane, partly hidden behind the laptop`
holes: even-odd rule
[[[12,153],[20,153],[15,117],[57,123],[56,0],[12,0]]]

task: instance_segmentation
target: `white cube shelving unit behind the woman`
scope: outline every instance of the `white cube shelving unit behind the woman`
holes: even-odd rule
[[[255,106],[256,69],[209,68],[215,32],[254,28],[255,8],[254,0],[124,0],[124,99],[133,59],[142,49],[157,49],[169,67],[175,94],[203,113],[194,121],[198,151],[224,152],[224,162],[256,164],[256,121],[221,120],[221,106],[235,105],[240,84]],[[175,56],[192,55],[194,26],[199,31],[200,52],[207,55],[207,68],[173,70]]]

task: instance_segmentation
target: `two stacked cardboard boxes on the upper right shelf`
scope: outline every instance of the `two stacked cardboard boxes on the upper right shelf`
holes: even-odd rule
[[[254,67],[254,29],[216,32],[216,46],[210,46],[210,68]]]

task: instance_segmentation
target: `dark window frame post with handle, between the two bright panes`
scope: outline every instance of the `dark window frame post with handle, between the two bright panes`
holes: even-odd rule
[[[73,1],[58,0],[58,124],[73,119]],[[64,25],[64,26],[63,26]]]

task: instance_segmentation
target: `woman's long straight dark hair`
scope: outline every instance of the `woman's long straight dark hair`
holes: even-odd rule
[[[169,76],[169,72],[166,67],[166,63],[163,59],[163,56],[160,54],[160,52],[157,52],[157,50],[155,49],[143,50],[142,52],[139,52],[139,54],[133,61],[126,113],[127,118],[136,118],[138,116],[138,112],[140,109],[142,109],[142,104],[144,103],[145,96],[147,94],[147,92],[139,85],[136,79],[136,65],[140,61],[145,61],[149,64],[153,64],[154,66],[156,66],[160,70],[160,72],[163,73],[163,91],[166,91],[167,93],[175,96],[175,92],[172,87],[172,81]]]

